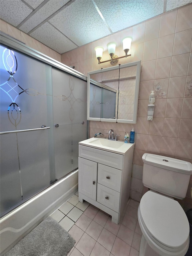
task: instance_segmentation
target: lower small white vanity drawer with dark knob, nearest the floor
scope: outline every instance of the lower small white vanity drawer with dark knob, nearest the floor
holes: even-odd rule
[[[119,212],[119,192],[97,184],[97,201],[115,212]]]

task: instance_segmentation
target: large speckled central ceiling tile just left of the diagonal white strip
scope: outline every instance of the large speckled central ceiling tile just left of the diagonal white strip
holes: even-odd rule
[[[110,34],[92,1],[75,1],[49,21],[79,46]]]

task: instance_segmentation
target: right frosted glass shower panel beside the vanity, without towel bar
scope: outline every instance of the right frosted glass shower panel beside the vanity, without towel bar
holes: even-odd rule
[[[78,142],[87,138],[87,85],[85,81],[54,68],[52,85],[54,124],[59,125],[54,128],[55,176],[59,179],[78,167]]]

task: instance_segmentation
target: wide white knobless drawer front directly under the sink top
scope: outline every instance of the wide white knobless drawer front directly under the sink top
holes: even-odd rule
[[[79,157],[122,170],[123,155],[79,145]]]

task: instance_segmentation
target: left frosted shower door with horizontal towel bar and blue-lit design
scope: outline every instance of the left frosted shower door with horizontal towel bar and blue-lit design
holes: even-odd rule
[[[14,132],[0,136],[1,214],[4,214],[47,187],[52,170],[49,130],[29,131],[42,125],[50,126],[48,65],[2,45],[0,50],[0,128],[1,132]]]

